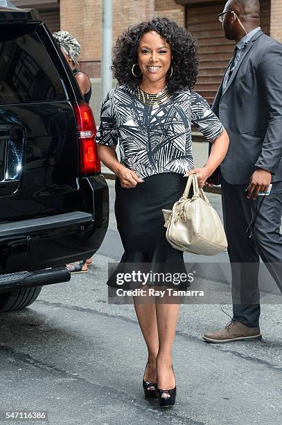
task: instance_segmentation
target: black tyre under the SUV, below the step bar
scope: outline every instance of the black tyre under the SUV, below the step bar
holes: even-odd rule
[[[30,306],[37,299],[41,286],[26,288],[18,291],[4,292],[0,294],[0,312],[20,310]]]

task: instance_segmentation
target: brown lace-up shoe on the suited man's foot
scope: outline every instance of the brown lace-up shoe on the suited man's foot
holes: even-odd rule
[[[215,331],[211,333],[205,333],[204,341],[213,342],[214,344],[224,344],[224,342],[233,341],[257,341],[261,340],[261,330],[257,328],[249,328],[240,322],[227,323],[222,331]]]

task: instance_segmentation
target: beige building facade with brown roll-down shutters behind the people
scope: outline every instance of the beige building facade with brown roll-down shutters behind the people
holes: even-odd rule
[[[51,31],[64,29],[82,45],[80,66],[93,81],[100,79],[103,0],[13,0],[17,6],[38,8]],[[195,89],[209,103],[232,56],[234,43],[224,38],[218,13],[222,0],[113,0],[113,44],[128,26],[151,17],[169,17],[186,26],[198,40],[200,74]],[[261,0],[261,26],[282,42],[282,0]],[[99,92],[97,86],[97,94]]]

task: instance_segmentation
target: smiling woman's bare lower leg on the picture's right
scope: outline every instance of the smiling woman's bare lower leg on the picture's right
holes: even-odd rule
[[[175,387],[175,376],[172,368],[172,349],[179,312],[179,298],[173,297],[174,303],[165,302],[165,299],[161,299],[160,301],[156,299],[157,328],[159,334],[157,384],[161,390],[170,390]],[[164,393],[161,397],[169,397],[169,395]]]

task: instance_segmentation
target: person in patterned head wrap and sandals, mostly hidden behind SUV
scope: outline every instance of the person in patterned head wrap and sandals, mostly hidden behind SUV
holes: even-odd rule
[[[78,56],[80,55],[80,44],[75,37],[73,37],[68,31],[58,31],[53,33],[53,38],[58,42],[64,57],[69,63],[73,75],[76,77],[76,81],[83,94],[85,102],[89,103],[91,98],[91,81],[85,72],[80,71]],[[87,273],[88,265],[92,264],[91,258],[87,260],[76,261],[75,263],[67,264],[67,268],[71,273]]]

